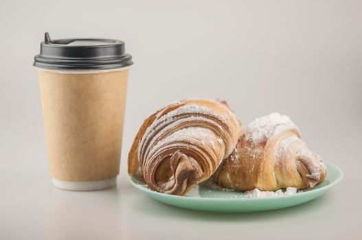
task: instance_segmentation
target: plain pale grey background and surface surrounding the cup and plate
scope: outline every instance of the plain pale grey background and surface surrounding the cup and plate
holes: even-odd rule
[[[1,1],[0,239],[358,239],[362,1]],[[52,38],[126,41],[131,69],[117,188],[52,187],[33,56]],[[145,117],[187,97],[227,99],[244,124],[289,115],[345,173],[330,193],[280,211],[163,205],[126,178]]]

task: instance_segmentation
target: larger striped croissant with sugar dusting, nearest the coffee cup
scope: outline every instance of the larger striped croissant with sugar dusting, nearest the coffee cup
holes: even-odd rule
[[[153,191],[185,195],[234,151],[241,121],[225,101],[185,99],[146,119],[128,154],[128,173]]]

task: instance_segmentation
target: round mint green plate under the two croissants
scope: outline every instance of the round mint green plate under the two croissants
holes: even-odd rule
[[[201,185],[192,189],[185,196],[177,196],[152,191],[146,187],[141,178],[133,176],[130,181],[133,186],[153,199],[180,208],[217,212],[256,212],[295,206],[326,193],[343,178],[343,172],[339,167],[330,163],[326,163],[326,165],[328,167],[326,179],[313,189],[294,195],[275,197],[246,198],[243,197],[242,192],[221,191]]]

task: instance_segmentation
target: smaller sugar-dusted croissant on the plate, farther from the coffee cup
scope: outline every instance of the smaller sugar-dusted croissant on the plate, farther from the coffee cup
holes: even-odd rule
[[[236,149],[206,182],[247,191],[314,187],[326,176],[326,165],[300,139],[294,123],[273,113],[242,129]]]

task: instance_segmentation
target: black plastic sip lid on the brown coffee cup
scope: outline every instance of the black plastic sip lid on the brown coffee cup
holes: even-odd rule
[[[42,69],[118,69],[132,64],[132,56],[120,40],[51,40],[47,32],[41,53],[34,57],[34,66]]]

